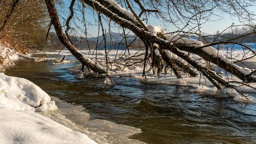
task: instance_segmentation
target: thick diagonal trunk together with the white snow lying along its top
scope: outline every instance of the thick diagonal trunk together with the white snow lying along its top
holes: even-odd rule
[[[213,47],[204,48],[204,44],[200,41],[182,38],[179,36],[173,36],[170,34],[164,34],[162,33],[163,30],[160,26],[151,26],[151,28],[150,26],[147,26],[148,31],[146,31],[141,28],[141,25],[138,24],[138,22],[134,23],[132,20],[130,20],[130,18],[126,17],[126,15],[123,15],[123,13],[118,12],[116,8],[113,9],[112,6],[109,6],[109,3],[101,4],[96,0],[83,1],[95,10],[108,16],[111,20],[113,20],[120,26],[128,28],[129,30],[134,32],[134,34],[136,34],[143,42],[152,42],[153,44],[158,44],[160,50],[170,50],[171,52],[173,52],[174,54],[183,59],[187,58],[186,61],[188,61],[188,63],[192,61],[191,58],[188,58],[189,56],[187,54],[183,56],[183,54],[178,52],[178,50],[190,52],[202,57],[204,60],[208,62],[212,62],[213,64],[218,65],[220,68],[223,68],[227,72],[230,72],[231,74],[243,80],[244,82],[255,81],[251,75],[246,75],[250,73],[250,71],[244,71],[243,68],[235,64],[232,64],[232,62],[226,62],[227,59],[225,58],[225,56],[223,56],[223,58],[220,58],[222,56],[218,54],[218,52]],[[162,35],[159,36],[158,33],[162,33]]]

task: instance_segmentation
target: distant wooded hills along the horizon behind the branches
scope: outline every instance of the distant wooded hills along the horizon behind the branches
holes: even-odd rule
[[[239,36],[239,35],[237,35]],[[192,37],[192,36],[184,36],[183,37],[187,37],[190,39],[198,39],[198,37]],[[228,40],[228,38],[232,38],[234,37],[234,35],[230,35],[230,34],[225,34],[223,37],[220,38],[216,38],[214,36],[205,36],[200,37],[199,39],[204,43],[204,44],[208,44],[211,42],[218,42],[218,41],[224,41],[225,39],[222,38],[226,38]],[[79,50],[88,50],[89,48],[91,50],[94,50],[97,46],[97,50],[103,50],[104,49],[104,41],[103,41],[103,36],[100,35],[98,37],[90,37],[88,38],[88,40],[86,40],[86,38],[84,37],[78,37],[78,36],[71,36],[70,37],[72,42],[74,43],[75,47]],[[97,39],[98,39],[98,43],[97,43]],[[132,46],[128,46],[129,49],[143,49],[144,48],[144,44],[143,42],[139,39],[136,38],[136,40],[134,40],[135,37],[134,35],[128,34],[126,36],[126,41],[128,44],[130,44],[132,41]],[[250,42],[255,42],[256,38],[253,35],[250,35],[246,38],[240,38],[238,39],[238,41],[240,41],[241,43],[250,43]],[[89,46],[88,46],[89,43]],[[62,49],[64,46],[61,44],[60,40],[58,39],[58,37],[56,36],[56,34],[54,32],[51,32],[49,34],[48,40],[47,40],[47,44],[45,46],[47,50],[60,50]],[[124,37],[122,36],[122,34],[116,33],[116,32],[111,32],[111,33],[107,33],[106,34],[106,48],[107,49],[119,49],[119,50],[124,50],[126,48],[126,44],[125,44],[125,40]]]

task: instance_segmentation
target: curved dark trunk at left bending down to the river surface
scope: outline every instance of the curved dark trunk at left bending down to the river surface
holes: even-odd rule
[[[52,24],[55,28],[56,34],[60,40],[60,42],[68,48],[68,50],[82,63],[83,66],[90,68],[94,72],[99,74],[106,74],[106,71],[94,66],[91,62],[89,62],[68,40],[65,34],[62,32],[62,27],[60,25],[60,21],[58,18],[58,14],[55,8],[54,0],[45,0],[48,12],[50,14],[50,18]]]

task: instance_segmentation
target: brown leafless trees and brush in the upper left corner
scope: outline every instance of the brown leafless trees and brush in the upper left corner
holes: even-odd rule
[[[43,0],[1,0],[0,39],[18,50],[42,48],[50,22]]]

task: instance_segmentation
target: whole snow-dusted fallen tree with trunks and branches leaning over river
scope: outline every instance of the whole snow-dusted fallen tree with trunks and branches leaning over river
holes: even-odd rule
[[[45,0],[48,12],[50,14],[51,18],[51,23],[54,25],[55,31],[58,35],[58,38],[64,44],[68,50],[82,63],[83,66],[86,66],[87,68],[90,68],[94,72],[104,74],[106,71],[102,70],[101,68],[97,67],[96,65],[92,64],[91,62],[88,62],[88,59],[84,58],[76,48],[72,45],[72,42],[68,39],[68,33],[67,31],[69,30],[69,21],[72,18],[74,11],[73,11],[73,6],[75,0],[72,0],[70,4],[70,16],[68,17],[68,20],[66,23],[67,25],[67,30],[66,30],[66,36],[62,32],[62,27],[60,26],[60,22],[58,19],[58,14],[56,11],[56,8],[54,6],[54,0]],[[140,15],[137,16],[136,13],[134,12],[132,5],[129,3],[128,0],[125,2],[120,2],[119,4],[113,0],[81,0],[82,3],[82,8],[85,8],[85,5],[90,6],[94,10],[99,12],[100,14],[104,14],[107,16],[111,21],[117,23],[118,25],[122,26],[123,28],[127,28],[131,30],[142,42],[144,42],[144,46],[146,48],[145,51],[145,56],[144,56],[144,72],[142,76],[145,75],[145,66],[148,58],[150,56],[148,55],[153,55],[155,52],[155,49],[158,49],[160,51],[160,54],[163,56],[162,60],[174,71],[174,74],[177,76],[177,78],[181,78],[182,76],[180,75],[180,72],[178,71],[177,67],[180,69],[184,69],[184,71],[188,72],[191,76],[196,76],[197,74],[191,70],[191,68],[188,65],[182,65],[176,58],[172,58],[171,56],[168,55],[168,52],[171,52],[178,56],[179,58],[182,58],[185,60],[188,64],[193,66],[198,70],[198,72],[201,72],[214,86],[217,88],[221,88],[221,85],[226,86],[226,87],[232,87],[232,84],[229,83],[228,79],[223,78],[222,76],[216,74],[216,72],[213,72],[213,70],[209,69],[206,66],[203,66],[198,62],[198,60],[194,60],[193,58],[190,57],[189,54],[195,54],[202,59],[204,59],[206,62],[208,62],[211,66],[211,64],[217,65],[219,68],[222,68],[226,72],[229,72],[230,74],[236,76],[243,82],[255,82],[255,78],[253,74],[255,73],[255,70],[253,69],[248,69],[248,68],[242,68],[232,62],[232,60],[228,59],[226,56],[221,55],[218,53],[218,51],[213,48],[212,46],[217,44],[217,43],[212,43],[208,45],[204,45],[202,42],[198,40],[191,40],[188,38],[184,38],[182,36],[177,36],[177,35],[172,35],[172,34],[166,34],[160,26],[150,26],[145,24],[139,17],[142,15],[142,13],[146,12],[147,9],[144,8],[139,0],[134,0],[133,5],[138,4],[140,7]],[[153,1],[151,1],[153,2]],[[162,1],[160,1],[162,2]],[[173,6],[177,6],[174,1],[168,1],[172,2]],[[120,6],[120,4],[127,4],[127,7],[130,10],[127,10],[126,8],[123,8]],[[208,3],[206,3],[208,4]],[[251,3],[250,5],[255,4]],[[184,5],[187,6],[188,8],[189,5]],[[233,6],[234,10],[243,9],[243,6],[234,6],[230,3],[228,6]],[[170,7],[170,6],[169,6]],[[180,6],[182,8],[182,6]],[[187,25],[189,25],[189,22],[191,20],[197,20],[198,16],[201,16],[204,14],[204,12],[210,12],[210,15],[212,14],[212,10],[216,7],[219,7],[218,4],[214,4],[213,6],[208,6],[208,7],[203,7],[202,10],[196,11],[196,14],[193,14],[192,16],[186,16],[182,14],[181,12],[180,15],[182,16],[183,20],[187,20]],[[134,6],[136,8],[136,6]],[[193,9],[193,8],[190,8]],[[180,8],[176,8],[175,10],[180,10]],[[84,12],[84,11],[83,11]],[[148,10],[148,12],[160,12],[157,9],[154,10]],[[184,10],[183,12],[190,12]],[[247,13],[249,11],[246,10]],[[246,13],[245,12],[245,13]],[[244,13],[243,13],[244,14]],[[250,13],[251,14],[251,13]],[[209,16],[210,16],[209,15]],[[241,15],[241,14],[240,14]],[[246,14],[245,14],[246,15]],[[253,15],[253,14],[251,14]],[[83,13],[84,16],[84,13]],[[244,16],[244,15],[243,15]],[[84,19],[83,17],[82,19]],[[206,19],[208,16],[205,17]],[[246,18],[246,17],[245,17]],[[199,18],[200,20],[202,17]],[[85,19],[84,19],[85,21]],[[198,26],[200,26],[200,23],[198,23]],[[251,26],[253,28],[253,26]],[[190,32],[187,32],[190,33]],[[194,33],[196,34],[196,33]],[[255,31],[255,26],[253,31],[250,34],[256,34]],[[244,35],[246,36],[246,34]],[[236,40],[236,38],[233,38],[232,41]],[[218,44],[228,44],[232,43],[230,40],[228,41],[223,41],[223,42],[218,42]],[[237,44],[240,44],[237,42]],[[129,44],[126,43],[128,46]],[[152,49],[150,49],[152,47]],[[154,47],[154,48],[153,48]],[[150,54],[149,54],[150,52]],[[167,53],[166,53],[167,52]],[[185,53],[187,52],[187,53]],[[252,50],[252,52],[255,54],[255,52]],[[107,59],[107,58],[106,58]],[[154,59],[152,61],[152,68],[153,68],[153,63]],[[160,67],[159,67],[160,68]],[[83,68],[82,68],[83,69]],[[233,81],[232,81],[233,82]],[[221,85],[220,85],[221,84]]]

